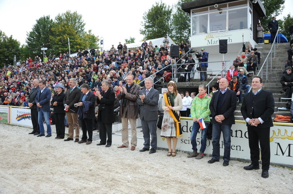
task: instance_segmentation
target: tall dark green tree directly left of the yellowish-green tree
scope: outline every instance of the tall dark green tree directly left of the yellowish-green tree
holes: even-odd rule
[[[33,25],[33,28],[30,32],[27,33],[27,38],[25,40],[27,46],[25,48],[28,50],[27,53],[29,56],[27,57],[35,57],[35,56],[43,56],[43,52],[41,48],[48,48],[47,52],[52,52],[50,45],[49,37],[52,36],[52,27],[54,25],[54,21],[50,19],[50,16],[42,16],[38,20],[36,20],[36,24]],[[24,48],[24,47],[23,47]]]

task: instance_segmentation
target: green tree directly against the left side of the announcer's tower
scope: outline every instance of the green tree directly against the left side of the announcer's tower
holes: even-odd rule
[[[171,39],[180,45],[181,41],[188,39],[190,36],[190,15],[185,15],[185,11],[182,10],[181,4],[192,0],[179,0],[177,4],[173,6],[174,13],[172,14],[172,26],[173,31]]]

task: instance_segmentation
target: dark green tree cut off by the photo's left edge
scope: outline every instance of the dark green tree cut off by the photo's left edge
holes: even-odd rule
[[[16,59],[20,58],[20,43],[12,38],[6,36],[4,32],[0,30],[0,67],[7,64],[13,64],[14,55]]]

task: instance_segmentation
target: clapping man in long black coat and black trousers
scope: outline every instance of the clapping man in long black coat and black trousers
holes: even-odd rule
[[[115,93],[110,88],[110,83],[107,80],[102,81],[102,94],[97,92],[97,104],[99,104],[98,110],[98,122],[100,130],[100,145],[106,145],[110,147],[112,144],[112,123],[114,123],[114,102],[115,102]],[[108,140],[106,142],[106,134]]]

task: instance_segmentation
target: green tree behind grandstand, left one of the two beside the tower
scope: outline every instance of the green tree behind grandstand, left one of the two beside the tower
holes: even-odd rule
[[[142,21],[142,29],[140,34],[144,36],[144,39],[156,39],[166,35],[172,34],[171,24],[171,12],[170,6],[167,6],[162,1],[156,2],[147,12],[144,13]]]

